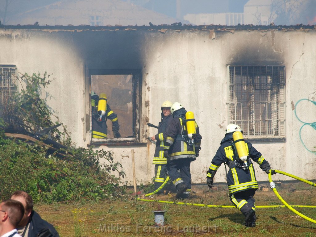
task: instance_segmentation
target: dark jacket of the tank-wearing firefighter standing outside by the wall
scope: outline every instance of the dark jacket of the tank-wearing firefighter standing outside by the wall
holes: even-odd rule
[[[188,135],[185,124],[185,113],[186,110],[184,108],[175,111],[173,113],[174,118],[163,134],[163,137],[167,137],[164,152],[165,157],[170,157],[168,161],[183,158],[189,158],[191,161],[194,161],[200,149],[202,136],[200,135],[197,123],[195,123],[196,137],[194,138],[194,144],[190,145],[182,138],[182,135]]]

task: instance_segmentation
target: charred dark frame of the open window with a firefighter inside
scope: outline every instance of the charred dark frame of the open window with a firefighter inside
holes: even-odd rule
[[[88,145],[106,145],[106,146],[122,146],[122,145],[144,145],[146,143],[142,143],[140,140],[140,118],[141,118],[141,81],[142,81],[142,71],[140,69],[85,69],[86,77],[88,76],[88,87],[89,91],[86,93],[89,97],[86,96],[86,100],[88,99],[89,108],[89,120],[86,121],[86,124],[90,125],[90,144]],[[105,139],[95,139],[91,137],[91,77],[93,75],[132,75],[132,137],[128,138],[105,138]],[[86,118],[87,120],[88,118]],[[120,120],[120,118],[119,118]],[[124,125],[120,124],[120,130],[124,129]]]

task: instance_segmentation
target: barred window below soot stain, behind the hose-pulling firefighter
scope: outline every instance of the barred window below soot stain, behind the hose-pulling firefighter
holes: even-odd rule
[[[245,138],[285,137],[285,66],[229,66],[229,121]]]

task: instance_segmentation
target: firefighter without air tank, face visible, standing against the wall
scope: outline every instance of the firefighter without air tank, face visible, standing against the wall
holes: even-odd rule
[[[170,124],[172,120],[172,114],[170,112],[170,107],[172,106],[172,102],[166,100],[161,105],[161,122],[158,124],[158,132],[154,136],[151,137],[151,140],[156,141],[156,149],[154,154],[153,164],[155,165],[155,190],[157,190],[165,179],[167,178],[167,158],[163,156],[163,149],[166,142],[166,137],[163,136],[163,133],[166,131],[166,128]],[[177,192],[176,188],[173,184],[167,183],[164,187],[167,191]],[[163,192],[163,189],[157,192],[160,194]]]

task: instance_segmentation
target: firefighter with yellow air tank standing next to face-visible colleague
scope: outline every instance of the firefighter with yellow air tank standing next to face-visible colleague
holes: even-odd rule
[[[168,175],[177,188],[176,197],[187,198],[191,192],[190,165],[199,154],[202,137],[193,113],[187,112],[181,103],[173,103],[171,113],[173,119],[163,134],[167,137],[164,157]]]

